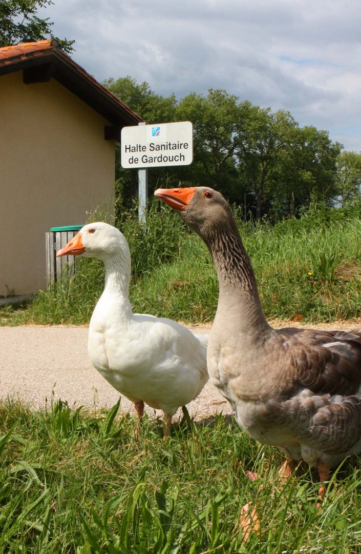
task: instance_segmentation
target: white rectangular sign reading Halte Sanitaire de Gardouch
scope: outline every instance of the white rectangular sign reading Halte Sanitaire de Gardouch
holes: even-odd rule
[[[122,167],[187,166],[193,160],[190,121],[123,127]]]

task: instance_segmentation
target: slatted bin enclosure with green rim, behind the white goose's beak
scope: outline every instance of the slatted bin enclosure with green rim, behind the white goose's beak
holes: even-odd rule
[[[62,270],[67,270],[67,275],[74,275],[76,269],[76,256],[61,256],[56,258],[57,250],[64,247],[83,225],[66,225],[65,227],[51,227],[49,233],[45,233],[46,247],[46,278],[48,289],[61,279]]]

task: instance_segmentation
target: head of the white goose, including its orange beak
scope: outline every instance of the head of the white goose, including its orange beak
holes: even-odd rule
[[[57,256],[80,254],[103,261],[107,258],[119,257],[119,254],[130,258],[128,243],[123,233],[103,222],[84,225],[79,233],[56,253]]]

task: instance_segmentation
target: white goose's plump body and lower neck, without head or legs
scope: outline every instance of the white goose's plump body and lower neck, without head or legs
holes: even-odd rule
[[[170,416],[205,385],[205,350],[185,327],[132,314],[129,301],[119,301],[107,291],[90,320],[88,353],[93,366],[130,401],[143,401]]]

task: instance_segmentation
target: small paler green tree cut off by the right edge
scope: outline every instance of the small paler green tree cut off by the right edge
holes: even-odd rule
[[[361,153],[343,151],[337,158],[336,184],[344,208],[361,199]]]

